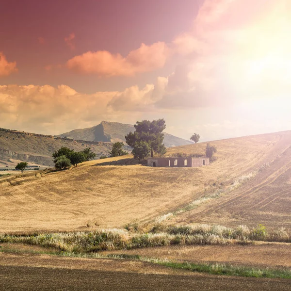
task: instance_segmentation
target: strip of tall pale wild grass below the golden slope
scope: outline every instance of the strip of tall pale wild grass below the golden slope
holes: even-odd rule
[[[0,234],[0,243],[26,243],[73,253],[168,245],[250,244],[254,241],[291,242],[291,236],[284,228],[268,233],[261,225],[253,229],[246,226],[236,228],[210,225],[170,226],[163,229],[163,232],[156,233],[134,233],[126,229],[107,229],[32,235]]]

